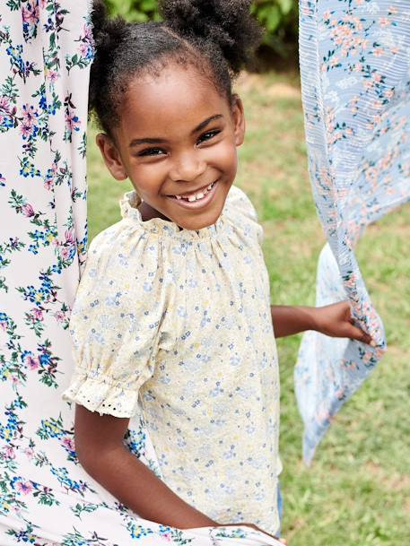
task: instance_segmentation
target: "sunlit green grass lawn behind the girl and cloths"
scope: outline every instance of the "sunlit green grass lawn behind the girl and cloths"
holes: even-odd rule
[[[248,117],[239,186],[266,231],[272,300],[314,304],[324,243],[307,175],[296,75],[246,76],[238,86]],[[93,141],[91,134],[91,141]],[[90,230],[117,221],[129,187],[109,178],[90,146]],[[410,207],[368,230],[359,262],[385,321],[389,351],[339,414],[310,469],[301,464],[301,419],[293,395],[298,336],[279,340],[284,536],[292,546],[410,544]]]

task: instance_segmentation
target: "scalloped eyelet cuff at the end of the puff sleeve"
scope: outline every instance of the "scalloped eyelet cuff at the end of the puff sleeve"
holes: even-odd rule
[[[63,393],[66,402],[84,406],[90,412],[118,418],[133,417],[138,412],[138,390],[98,381],[86,374],[75,374]]]

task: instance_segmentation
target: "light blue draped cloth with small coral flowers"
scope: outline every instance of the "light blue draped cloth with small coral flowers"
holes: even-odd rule
[[[317,303],[349,299],[376,342],[304,335],[295,384],[310,463],[387,348],[354,249],[369,224],[410,199],[410,12],[407,0],[301,0],[300,21],[310,179],[327,237]]]

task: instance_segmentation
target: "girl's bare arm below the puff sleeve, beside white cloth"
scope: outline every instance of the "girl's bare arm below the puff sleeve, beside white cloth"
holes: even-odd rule
[[[128,422],[76,406],[75,447],[86,472],[144,519],[179,529],[216,526],[126,449]]]

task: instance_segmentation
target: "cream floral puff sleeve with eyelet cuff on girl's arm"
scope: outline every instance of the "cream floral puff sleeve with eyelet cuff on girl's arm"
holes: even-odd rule
[[[75,366],[65,400],[115,417],[137,412],[163,313],[158,254],[123,222],[92,241],[71,316]]]

